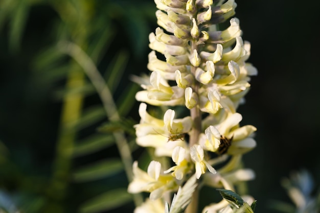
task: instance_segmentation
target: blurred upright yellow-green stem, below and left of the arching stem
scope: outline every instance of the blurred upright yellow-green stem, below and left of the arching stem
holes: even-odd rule
[[[84,74],[79,70],[79,65],[74,64],[67,78],[68,89],[84,85]],[[48,192],[57,203],[52,203],[49,212],[63,212],[58,204],[66,196],[68,179],[72,162],[72,150],[76,131],[72,124],[79,119],[82,111],[83,96],[69,94],[64,98],[61,114],[61,124],[57,139],[56,158],[53,164],[53,178]]]

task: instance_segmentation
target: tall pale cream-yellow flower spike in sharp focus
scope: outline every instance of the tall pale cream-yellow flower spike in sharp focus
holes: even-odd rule
[[[135,162],[128,191],[163,199],[193,174],[203,184],[235,190],[236,182],[254,178],[253,171],[240,168],[239,162],[256,146],[252,137],[256,128],[240,126],[237,108],[244,103],[250,76],[257,75],[246,62],[250,44],[241,38],[239,20],[232,18],[237,5],[234,0],[154,2],[160,28],[149,35],[150,78],[140,79],[144,90],[136,93],[136,100],[143,102],[141,122],[135,125],[136,143],[153,147],[157,157],[171,157],[173,166],[162,168],[166,165],[151,161],[144,172]],[[226,21],[230,26],[220,29]],[[147,112],[147,104],[168,110],[158,118]],[[177,106],[185,106],[190,114],[176,118]],[[222,166],[214,169],[219,163]],[[205,210],[216,212],[226,205]],[[137,209],[143,212],[142,207]]]

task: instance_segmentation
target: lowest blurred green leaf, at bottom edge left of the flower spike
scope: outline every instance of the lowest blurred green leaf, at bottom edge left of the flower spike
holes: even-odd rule
[[[125,205],[132,200],[126,188],[118,188],[99,195],[80,206],[81,213],[108,211]]]

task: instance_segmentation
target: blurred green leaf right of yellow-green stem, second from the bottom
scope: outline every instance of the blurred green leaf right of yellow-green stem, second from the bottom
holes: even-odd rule
[[[73,179],[76,182],[98,180],[116,174],[123,170],[120,159],[108,159],[86,165],[74,172]]]

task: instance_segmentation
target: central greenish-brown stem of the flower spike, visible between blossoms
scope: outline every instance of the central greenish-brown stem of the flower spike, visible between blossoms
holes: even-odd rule
[[[197,49],[197,45],[195,41],[192,41],[191,47],[192,47],[191,48],[192,52],[193,50]],[[191,73],[194,76],[195,76],[195,70],[196,70],[196,67],[191,66]],[[192,89],[197,94],[199,89],[199,83],[196,82]],[[190,110],[190,115],[193,120],[193,128],[190,134],[189,146],[192,147],[193,145],[198,143],[199,135],[201,133],[201,111],[198,105]],[[196,190],[192,195],[191,203],[186,208],[185,213],[196,213],[198,211],[198,199],[199,199],[199,190],[198,188],[196,188]]]

